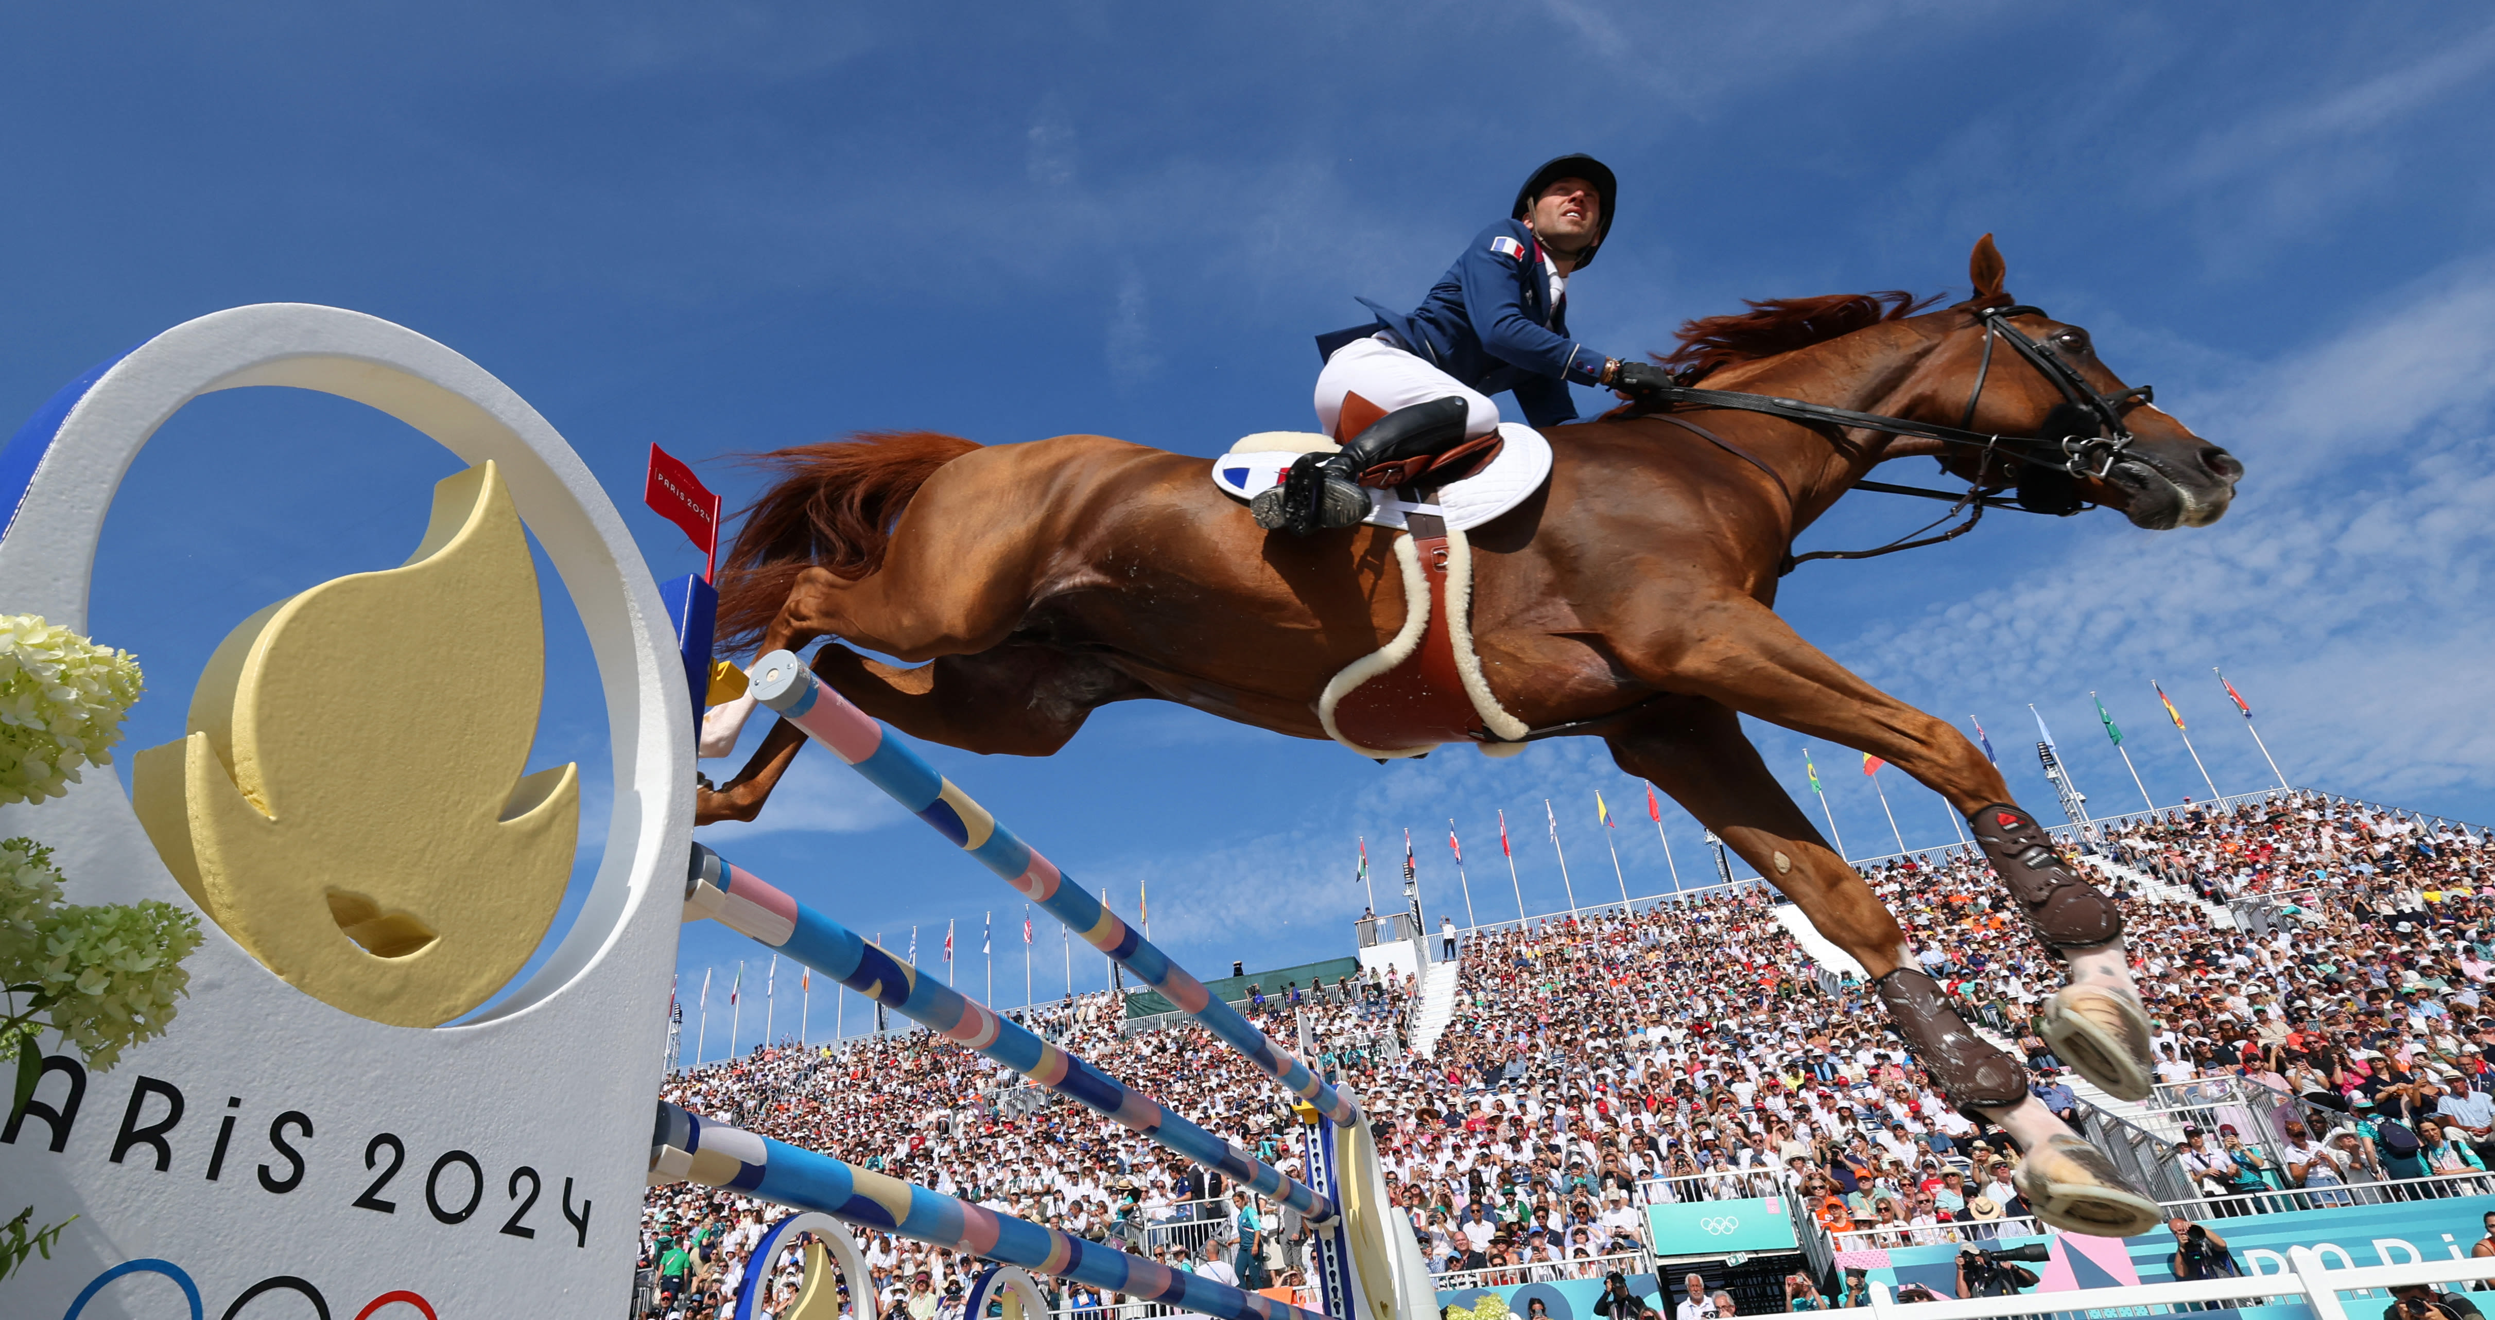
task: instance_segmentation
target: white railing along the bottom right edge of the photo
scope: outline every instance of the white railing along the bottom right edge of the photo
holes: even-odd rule
[[[2413,1283],[2463,1283],[2495,1278],[2495,1258],[2420,1260],[2415,1265],[2358,1265],[2330,1270],[2313,1248],[2288,1248],[2288,1268],[2275,1275],[2211,1278],[2193,1283],[2143,1283],[2131,1288],[2081,1288],[2076,1293],[2021,1293],[2016,1298],[1944,1298],[1899,1303],[1886,1283],[1871,1285],[1871,1320],[1998,1320],[2008,1315],[2153,1315],[2243,1305],[2305,1303],[2313,1320],[2350,1320],[2340,1293],[2408,1288]],[[2365,1313],[2370,1315],[2370,1310]]]

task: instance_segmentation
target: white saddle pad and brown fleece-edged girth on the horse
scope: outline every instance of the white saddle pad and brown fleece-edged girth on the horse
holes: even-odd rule
[[[1213,459],[1213,484],[1248,502],[1280,484],[1300,454],[1332,452],[1315,432],[1260,432]],[[1507,714],[1472,649],[1472,544],[1480,527],[1542,489],[1552,449],[1542,432],[1502,422],[1495,434],[1442,454],[1377,464],[1367,522],[1395,539],[1405,621],[1377,651],[1347,664],[1317,694],[1327,736],[1360,756],[1427,756],[1470,741],[1490,756],[1524,751],[1524,721]]]

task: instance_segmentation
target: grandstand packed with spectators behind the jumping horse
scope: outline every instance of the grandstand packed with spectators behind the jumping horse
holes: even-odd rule
[[[2193,1223],[2495,1193],[2490,831],[2295,789],[2061,833],[2126,906],[2158,1023],[2143,1103],[2061,1073],[2031,1031],[2061,971],[1981,856],[1856,866],[1969,1021],[2136,1185]],[[1442,1300],[1622,1270],[1659,1275],[1642,1288],[1669,1308],[1697,1270],[1734,1310],[1781,1313],[1794,1275],[1844,1303],[1849,1268],[1904,1280],[1916,1248],[2048,1233],[2011,1190],[2016,1148],[1939,1100],[1859,968],[1759,881],[1460,931],[1452,966],[1435,931],[1392,928],[1410,961],[1362,951],[1357,973],[1218,988],[1362,1095]],[[1160,1008],[1090,993],[1018,1018],[1305,1173],[1270,1083]],[[674,1075],[666,1098],[1170,1265],[1210,1245],[1248,1288],[1305,1288],[1292,1215],[941,1038],[763,1048]],[[2418,1150],[2373,1140],[2383,1120]],[[766,1213],[651,1193],[644,1268],[659,1238],[704,1258],[671,1313],[721,1310]],[[876,1315],[958,1315],[973,1260],[886,1235],[866,1250]],[[1060,1315],[1165,1310],[1053,1288]]]

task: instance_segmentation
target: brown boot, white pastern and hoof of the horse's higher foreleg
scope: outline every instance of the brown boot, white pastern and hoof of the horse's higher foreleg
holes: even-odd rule
[[[2113,898],[2078,878],[2026,811],[1994,803],[1969,823],[1984,856],[1994,861],[1994,873],[2026,908],[2036,938],[2071,963],[2071,983],[2036,1016],[2036,1036],[2108,1095],[2146,1100],[2156,1056],[2148,1048],[2148,1013],[2123,958],[2123,913]]]

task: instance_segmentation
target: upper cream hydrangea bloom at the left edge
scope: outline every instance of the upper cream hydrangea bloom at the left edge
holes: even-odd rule
[[[110,766],[145,679],[130,651],[37,614],[0,614],[0,803],[57,798]]]

